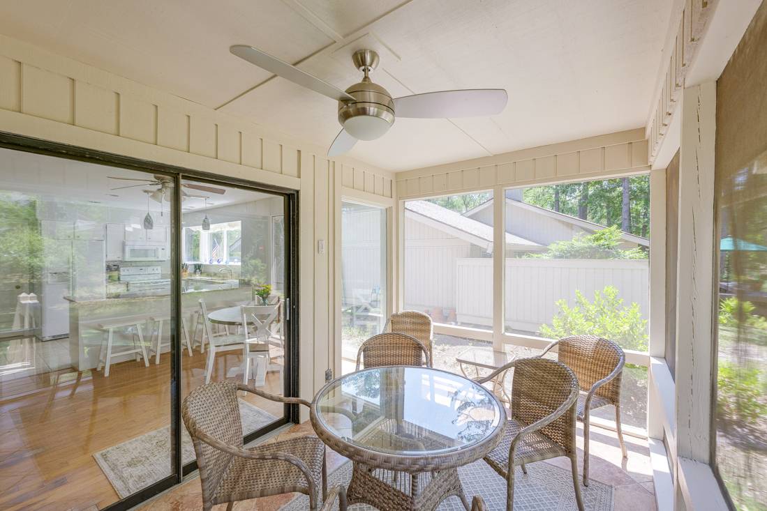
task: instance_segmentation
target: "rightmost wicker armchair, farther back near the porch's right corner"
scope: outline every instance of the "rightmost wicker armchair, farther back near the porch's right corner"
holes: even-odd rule
[[[588,486],[588,437],[591,410],[613,405],[615,431],[623,457],[628,457],[621,431],[621,381],[626,355],[620,346],[597,336],[571,336],[552,342],[541,354],[558,346],[558,360],[578,377],[578,421],[583,422],[583,484]]]

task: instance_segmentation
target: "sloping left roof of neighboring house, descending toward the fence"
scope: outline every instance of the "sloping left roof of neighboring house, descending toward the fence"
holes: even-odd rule
[[[443,208],[438,204],[429,201],[406,201],[405,209],[414,215],[418,215],[419,221],[446,232],[452,236],[469,243],[485,247],[486,251],[492,251],[492,226],[483,224],[481,221],[474,220],[453,211]],[[518,248],[521,250],[538,251],[543,250],[540,244],[530,241],[515,234],[506,233],[506,246],[509,248]]]

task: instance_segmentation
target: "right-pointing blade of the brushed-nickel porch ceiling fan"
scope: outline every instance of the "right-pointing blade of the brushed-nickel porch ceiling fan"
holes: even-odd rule
[[[492,116],[501,113],[508,100],[503,89],[442,90],[398,97],[394,115],[422,119]]]

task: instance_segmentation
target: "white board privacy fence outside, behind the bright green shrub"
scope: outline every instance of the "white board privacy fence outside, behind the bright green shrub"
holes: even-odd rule
[[[505,266],[505,323],[511,329],[536,332],[551,325],[558,300],[573,306],[580,290],[591,301],[606,286],[617,288],[624,305],[638,303],[648,317],[646,259],[507,259]],[[456,260],[454,300],[457,323],[492,326],[492,259]]]

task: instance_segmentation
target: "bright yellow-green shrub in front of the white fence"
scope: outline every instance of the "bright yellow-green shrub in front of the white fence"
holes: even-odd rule
[[[565,300],[558,300],[557,306],[559,312],[551,319],[551,326],[541,326],[542,336],[561,339],[593,335],[617,342],[624,349],[647,351],[647,319],[642,318],[638,303],[624,306],[615,287],[596,291],[591,302],[576,290],[574,306]]]

